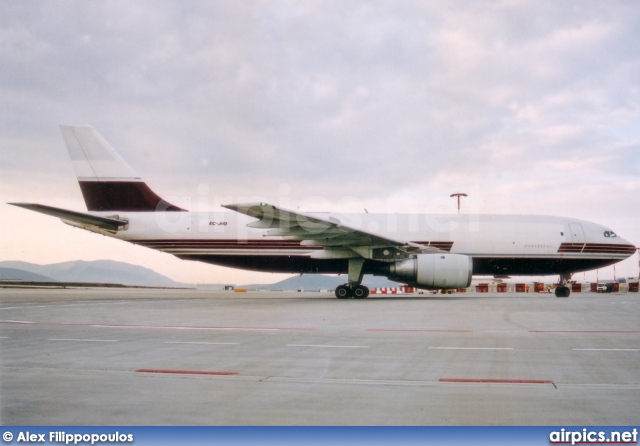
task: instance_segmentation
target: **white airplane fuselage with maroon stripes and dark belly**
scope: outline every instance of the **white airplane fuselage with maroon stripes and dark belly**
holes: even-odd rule
[[[247,227],[253,218],[234,212],[94,213],[126,219],[113,237],[186,260],[254,271],[346,273],[349,254],[268,236]],[[474,275],[567,274],[605,267],[635,253],[635,247],[605,226],[537,215],[329,214],[370,233],[410,240],[444,252],[468,255]],[[324,250],[326,251],[326,250]],[[354,254],[353,257],[356,255]],[[369,260],[375,274],[384,260]]]

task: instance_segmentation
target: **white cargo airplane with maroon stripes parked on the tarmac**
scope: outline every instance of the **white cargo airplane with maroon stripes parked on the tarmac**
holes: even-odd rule
[[[363,299],[365,274],[428,290],[472,275],[559,275],[626,259],[636,247],[606,226],[539,215],[311,213],[270,203],[189,212],[162,199],[92,127],[60,126],[88,212],[9,203],[136,245],[246,270],[346,274],[340,299]]]

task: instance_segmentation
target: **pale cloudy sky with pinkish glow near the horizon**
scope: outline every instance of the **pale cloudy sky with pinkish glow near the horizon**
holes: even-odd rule
[[[1,2],[0,60],[0,260],[287,277],[7,205],[85,209],[60,124],[95,127],[192,210],[455,213],[466,192],[462,212],[570,216],[640,245],[636,1]],[[637,255],[616,268],[637,276]]]

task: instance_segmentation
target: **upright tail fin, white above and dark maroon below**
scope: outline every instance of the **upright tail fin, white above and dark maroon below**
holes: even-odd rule
[[[156,195],[93,127],[60,130],[88,210],[184,211]]]

